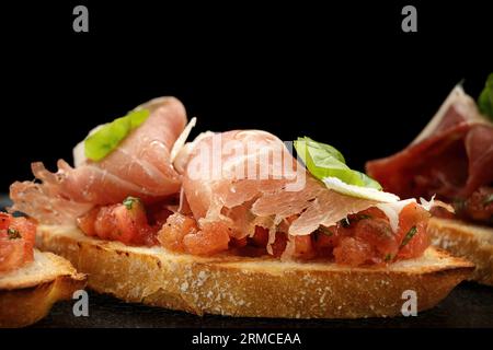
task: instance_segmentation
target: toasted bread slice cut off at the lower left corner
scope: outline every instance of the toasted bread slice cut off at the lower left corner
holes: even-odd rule
[[[34,261],[0,273],[0,327],[24,327],[46,316],[53,304],[71,299],[87,277],[66,259],[34,249]]]

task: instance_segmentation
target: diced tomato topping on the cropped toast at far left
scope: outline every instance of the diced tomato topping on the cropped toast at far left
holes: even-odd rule
[[[34,258],[36,224],[26,218],[0,213],[0,271],[11,271]]]

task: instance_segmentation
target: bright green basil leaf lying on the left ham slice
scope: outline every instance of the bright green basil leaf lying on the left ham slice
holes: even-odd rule
[[[149,110],[139,109],[102,126],[84,140],[85,158],[95,162],[101,161],[148,117]]]

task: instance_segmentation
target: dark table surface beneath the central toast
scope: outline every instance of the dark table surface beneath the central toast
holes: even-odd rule
[[[0,208],[9,205],[0,197]],[[333,319],[267,319],[195,316],[182,312],[127,304],[110,295],[90,292],[89,316],[74,317],[72,301],[57,303],[50,314],[33,327],[211,327],[211,328],[314,328],[314,327],[474,327],[493,328],[493,288],[462,282],[436,307],[416,317]]]

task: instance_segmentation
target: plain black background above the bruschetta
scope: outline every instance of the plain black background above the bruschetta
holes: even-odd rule
[[[306,135],[363,168],[408,144],[456,83],[477,97],[493,70],[488,1],[268,3],[2,5],[0,191],[160,95],[198,117],[194,133]],[[417,33],[401,31],[409,3]],[[89,8],[89,33],[72,31],[76,4]]]

